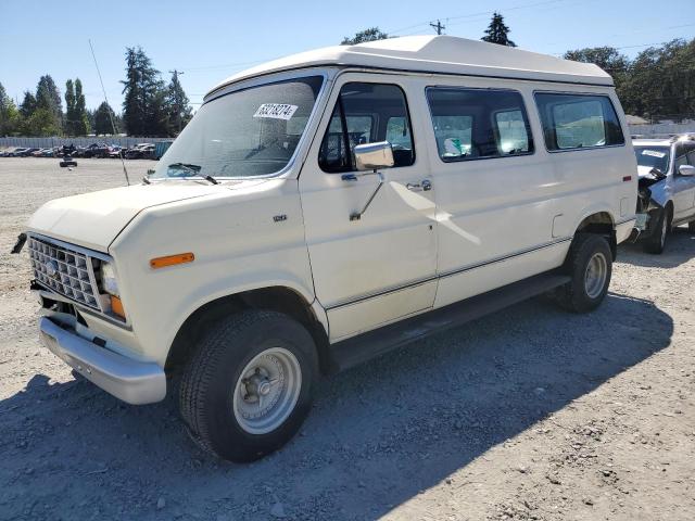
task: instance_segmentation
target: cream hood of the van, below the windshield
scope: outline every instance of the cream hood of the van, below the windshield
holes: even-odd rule
[[[100,252],[144,208],[256,185],[261,180],[203,185],[165,181],[134,185],[49,201],[29,219],[28,231]]]

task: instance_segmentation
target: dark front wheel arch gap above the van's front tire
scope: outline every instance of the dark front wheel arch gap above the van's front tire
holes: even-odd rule
[[[213,298],[194,309],[178,328],[164,369],[167,373],[186,365],[194,352],[198,340],[215,321],[243,309],[266,309],[282,313],[302,323],[316,344],[320,370],[332,370],[329,353],[327,321],[323,308],[314,301],[286,285],[254,288]]]

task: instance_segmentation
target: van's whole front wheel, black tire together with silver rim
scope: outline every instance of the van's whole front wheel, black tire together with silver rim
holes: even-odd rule
[[[179,405],[191,437],[237,462],[280,448],[311,409],[317,367],[311,334],[286,315],[249,310],[222,320],[181,378]]]

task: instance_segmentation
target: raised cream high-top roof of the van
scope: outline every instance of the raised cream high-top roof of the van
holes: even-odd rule
[[[217,85],[208,94],[226,85],[253,76],[315,66],[353,66],[614,85],[610,75],[594,64],[453,36],[406,36],[356,46],[326,47],[274,60],[235,74]]]

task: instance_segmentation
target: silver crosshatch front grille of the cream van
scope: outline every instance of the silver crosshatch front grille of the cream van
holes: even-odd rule
[[[28,238],[36,280],[61,295],[103,313],[93,262],[87,253],[36,237]]]

